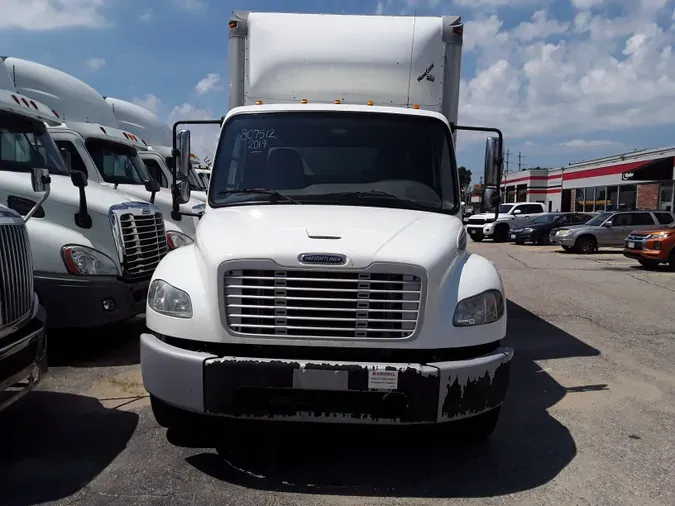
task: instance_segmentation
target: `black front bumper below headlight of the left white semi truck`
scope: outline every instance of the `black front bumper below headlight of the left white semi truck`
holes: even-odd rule
[[[36,272],[35,291],[50,328],[96,327],[145,312],[149,280],[126,283],[115,276]],[[104,307],[104,301],[113,301]]]

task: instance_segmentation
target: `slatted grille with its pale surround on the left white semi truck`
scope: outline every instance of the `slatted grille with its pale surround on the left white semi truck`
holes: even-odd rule
[[[169,251],[162,213],[152,205],[134,202],[113,206],[111,216],[123,278],[150,278]]]

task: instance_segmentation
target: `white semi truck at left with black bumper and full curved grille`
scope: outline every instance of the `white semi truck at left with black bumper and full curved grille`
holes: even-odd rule
[[[49,326],[94,327],[142,313],[150,275],[167,252],[162,214],[69,171],[46,126],[62,119],[17,93],[5,64],[0,61],[0,204],[32,216],[35,290]],[[39,206],[35,168],[51,177],[49,197]]]

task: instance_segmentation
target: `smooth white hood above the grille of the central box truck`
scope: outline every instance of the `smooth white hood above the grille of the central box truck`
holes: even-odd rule
[[[241,205],[209,209],[196,246],[206,265],[274,259],[299,267],[303,253],[340,254],[347,265],[414,264],[432,270],[457,254],[462,222],[455,216],[405,209],[316,205]]]

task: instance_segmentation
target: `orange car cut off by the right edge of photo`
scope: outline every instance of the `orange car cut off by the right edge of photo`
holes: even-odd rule
[[[662,213],[657,218],[665,220],[670,214]],[[675,269],[675,222],[649,231],[633,230],[626,237],[623,254],[637,260],[643,267],[669,264]]]

